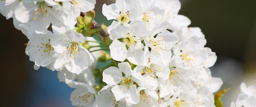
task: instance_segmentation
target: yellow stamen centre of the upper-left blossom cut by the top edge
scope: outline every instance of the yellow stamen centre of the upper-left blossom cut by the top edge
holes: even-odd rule
[[[42,22],[45,22],[45,17],[48,17],[49,14],[47,13],[47,7],[48,5],[45,2],[36,2],[36,9],[35,16],[33,17],[34,20],[37,20],[38,18],[42,18]]]

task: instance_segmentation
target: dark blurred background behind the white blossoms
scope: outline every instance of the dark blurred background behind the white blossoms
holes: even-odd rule
[[[222,78],[224,107],[240,93],[240,83],[256,85],[256,0],[180,0],[181,15],[191,26],[202,29],[210,47],[218,56],[212,75]],[[101,13],[104,3],[97,0],[96,21],[110,25]],[[13,26],[12,19],[0,16],[0,107],[71,107],[73,89],[58,81],[57,72],[34,70],[25,55],[28,39]]]

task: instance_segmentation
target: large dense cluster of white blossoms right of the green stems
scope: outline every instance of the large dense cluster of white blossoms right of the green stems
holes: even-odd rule
[[[103,71],[106,88],[96,103],[139,107],[214,107],[222,80],[211,76],[216,54],[190,20],[178,15],[178,0],[116,0],[103,5],[110,56],[118,63]],[[129,63],[135,65],[132,70]],[[102,95],[101,95],[102,94]],[[108,94],[108,95],[106,95]],[[111,101],[102,102],[101,99]]]

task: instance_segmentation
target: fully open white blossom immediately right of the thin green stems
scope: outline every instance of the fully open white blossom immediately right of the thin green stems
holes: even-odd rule
[[[147,27],[141,21],[131,22],[128,26],[117,26],[111,31],[110,39],[113,40],[110,47],[110,55],[117,61],[124,61],[126,58],[135,63],[134,57],[140,57],[144,47],[141,43],[147,35]]]

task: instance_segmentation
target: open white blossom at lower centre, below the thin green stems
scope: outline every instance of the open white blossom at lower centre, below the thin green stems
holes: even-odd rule
[[[110,67],[104,70],[103,81],[108,85],[115,85],[111,91],[117,101],[125,99],[128,103],[139,103],[137,87],[134,84],[137,80],[132,76],[129,63],[119,63],[118,67]],[[124,73],[124,76],[122,76],[122,73]]]

